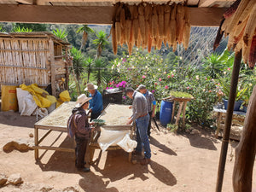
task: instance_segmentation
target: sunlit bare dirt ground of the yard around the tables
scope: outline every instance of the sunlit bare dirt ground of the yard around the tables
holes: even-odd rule
[[[152,161],[148,166],[131,164],[125,151],[116,150],[102,153],[96,165],[90,166],[91,172],[81,173],[75,169],[73,153],[39,150],[40,160],[36,162],[33,150],[22,153],[15,149],[3,151],[3,146],[11,141],[24,139],[33,142],[34,138],[29,137],[29,134],[33,134],[35,122],[34,116],[0,112],[0,173],[7,177],[20,173],[24,181],[20,186],[9,184],[0,188],[0,191],[38,191],[37,186],[42,184],[57,190],[73,186],[79,191],[97,192],[215,191],[221,140],[200,127],[194,127],[199,131],[196,134],[176,135],[163,127],[160,127],[159,134],[153,130],[150,138]],[[51,132],[44,143],[53,143],[52,146],[73,146],[67,133],[56,131]],[[232,142],[228,148],[224,192],[233,191],[231,179],[236,144]],[[98,156],[97,152],[95,158]],[[254,166],[254,177],[255,169]],[[254,180],[253,189],[256,189]]]

